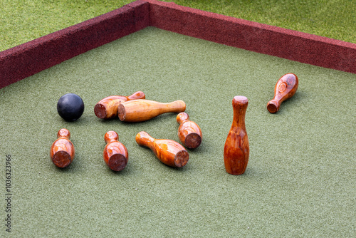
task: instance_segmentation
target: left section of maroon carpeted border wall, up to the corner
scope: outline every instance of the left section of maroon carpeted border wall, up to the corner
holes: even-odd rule
[[[0,52],[0,88],[148,26],[149,4],[135,1]]]

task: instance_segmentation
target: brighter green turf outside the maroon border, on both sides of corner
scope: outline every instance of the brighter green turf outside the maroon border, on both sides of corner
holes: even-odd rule
[[[171,0],[168,0],[171,1]],[[1,0],[0,51],[117,9],[131,0]],[[356,1],[192,1],[175,3],[356,43]]]

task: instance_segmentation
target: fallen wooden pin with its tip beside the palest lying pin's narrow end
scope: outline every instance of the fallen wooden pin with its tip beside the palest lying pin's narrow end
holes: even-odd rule
[[[197,148],[202,138],[199,125],[189,120],[187,113],[179,113],[177,123],[179,123],[178,137],[182,144],[189,149]]]

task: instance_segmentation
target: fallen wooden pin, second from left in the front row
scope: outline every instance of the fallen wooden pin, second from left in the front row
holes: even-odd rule
[[[120,171],[125,169],[129,154],[125,145],[122,145],[119,140],[119,135],[115,131],[108,131],[104,136],[105,146],[103,157],[106,165],[111,170]]]

